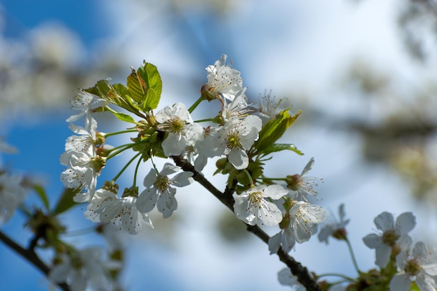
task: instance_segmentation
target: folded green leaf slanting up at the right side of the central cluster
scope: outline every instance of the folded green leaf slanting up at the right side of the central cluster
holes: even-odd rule
[[[256,154],[263,154],[265,149],[272,146],[276,140],[279,140],[279,137],[295,122],[300,113],[301,111],[299,110],[297,114],[290,115],[287,108],[279,112],[274,119],[267,121],[265,126],[262,126],[260,137],[253,144],[253,148],[256,149]]]

